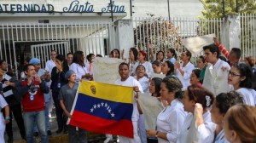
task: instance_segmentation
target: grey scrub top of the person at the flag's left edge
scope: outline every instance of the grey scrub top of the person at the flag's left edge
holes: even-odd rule
[[[67,108],[67,112],[71,112],[73,106],[73,100],[77,94],[79,83],[75,83],[71,89],[68,84],[61,87],[59,93],[59,100],[64,100],[64,105]]]

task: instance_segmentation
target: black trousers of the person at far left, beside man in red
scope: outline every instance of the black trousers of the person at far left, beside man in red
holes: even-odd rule
[[[25,131],[25,127],[24,127],[24,122],[23,122],[23,117],[22,117],[20,103],[17,104],[17,105],[14,105],[14,106],[9,106],[9,117],[10,117],[10,120],[9,120],[9,123],[6,124],[5,131],[8,134],[9,138],[13,137],[13,129],[12,129],[12,126],[13,126],[13,123],[12,123],[13,115],[12,114],[14,114],[15,121],[18,124],[18,127],[20,129],[20,135],[24,139],[26,137],[26,131]],[[4,110],[3,110],[3,115],[5,117]]]

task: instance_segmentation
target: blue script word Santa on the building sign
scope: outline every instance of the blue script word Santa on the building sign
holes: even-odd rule
[[[72,13],[93,13],[93,5],[89,2],[80,4],[78,0],[74,0],[70,3],[69,7],[64,7],[63,12],[72,12]]]

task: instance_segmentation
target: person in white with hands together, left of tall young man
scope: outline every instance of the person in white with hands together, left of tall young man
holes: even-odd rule
[[[195,69],[195,66],[190,62],[192,54],[189,51],[185,51],[180,55],[180,60],[183,63],[176,62],[174,66],[174,72],[177,78],[183,83],[183,91],[190,85],[190,75]]]

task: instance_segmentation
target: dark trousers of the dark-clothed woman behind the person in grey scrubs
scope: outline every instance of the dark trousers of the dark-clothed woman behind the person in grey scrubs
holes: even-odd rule
[[[58,99],[59,93],[52,91],[52,98],[55,102],[55,112],[56,112],[56,117],[57,117],[57,123],[58,123],[58,128],[63,129],[64,127],[67,127],[66,125],[66,119],[65,115],[63,114],[63,110],[61,108],[60,100]]]

